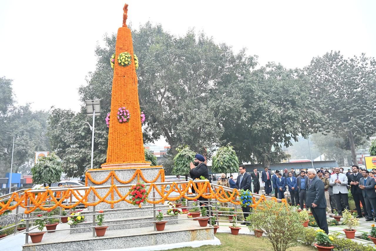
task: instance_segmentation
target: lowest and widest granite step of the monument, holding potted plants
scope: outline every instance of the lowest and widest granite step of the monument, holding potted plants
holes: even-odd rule
[[[187,219],[186,215],[179,215]],[[135,229],[107,230],[103,237],[92,237],[92,233],[70,234],[67,224],[59,224],[54,233],[45,233],[39,243],[23,245],[23,251],[66,251],[74,247],[80,251],[124,249],[152,245],[192,242],[195,240],[214,240],[213,227],[200,227],[196,220],[180,220],[179,224],[166,225],[164,231],[154,232],[153,227]],[[140,249],[141,250],[141,249]],[[159,249],[160,250],[160,249]]]

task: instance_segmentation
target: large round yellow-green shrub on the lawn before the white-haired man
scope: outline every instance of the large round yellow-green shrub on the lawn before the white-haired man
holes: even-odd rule
[[[298,238],[304,232],[304,227],[295,210],[288,210],[284,203],[271,200],[262,202],[247,217],[249,230],[264,230],[265,238],[271,242],[274,251],[285,251],[299,244]]]

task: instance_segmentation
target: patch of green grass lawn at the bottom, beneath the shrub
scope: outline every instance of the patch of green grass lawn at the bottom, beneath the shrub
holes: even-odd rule
[[[215,237],[220,239],[221,245],[212,246],[205,245],[198,248],[174,248],[170,249],[173,251],[184,250],[184,251],[198,251],[198,250],[217,250],[217,251],[271,251],[273,247],[270,245],[270,242],[264,238],[256,238],[253,235],[248,234],[239,234],[232,235],[229,233],[217,233]],[[296,246],[293,248],[287,249],[288,251],[312,251],[316,250],[313,247],[308,246]]]

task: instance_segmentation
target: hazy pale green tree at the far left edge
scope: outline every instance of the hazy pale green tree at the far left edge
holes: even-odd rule
[[[27,174],[34,163],[36,151],[48,151],[46,136],[48,112],[32,111],[29,104],[17,106],[12,80],[0,78],[0,176],[11,169],[13,136],[13,172]],[[11,133],[11,134],[9,134]]]

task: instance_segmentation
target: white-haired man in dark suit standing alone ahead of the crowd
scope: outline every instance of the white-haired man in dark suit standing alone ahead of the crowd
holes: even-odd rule
[[[308,185],[307,185],[307,201],[306,204],[311,208],[313,217],[315,218],[318,227],[329,234],[328,223],[326,221],[326,200],[324,183],[316,176],[316,170],[311,168],[307,171]]]

